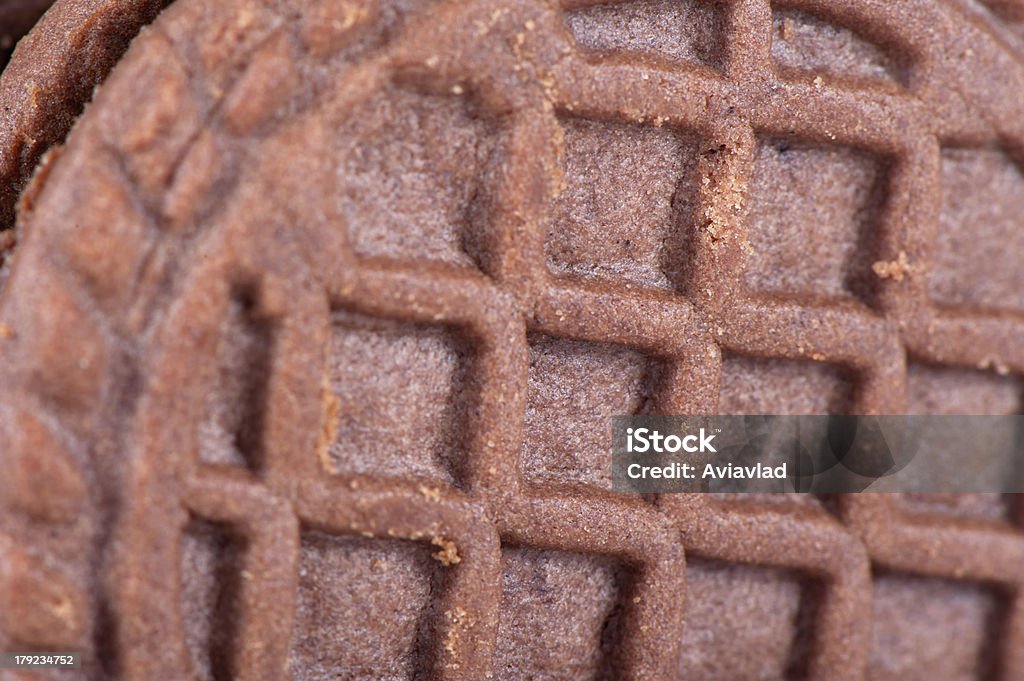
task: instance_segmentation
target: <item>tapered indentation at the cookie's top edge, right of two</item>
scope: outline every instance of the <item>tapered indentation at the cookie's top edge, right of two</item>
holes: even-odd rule
[[[848,80],[903,80],[900,62],[848,28],[797,9],[774,12],[771,55],[782,70]]]

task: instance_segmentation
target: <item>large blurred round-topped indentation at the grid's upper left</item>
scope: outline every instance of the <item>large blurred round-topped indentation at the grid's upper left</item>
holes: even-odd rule
[[[465,96],[387,89],[336,138],[339,207],[356,253],[473,266],[465,241],[495,135]]]

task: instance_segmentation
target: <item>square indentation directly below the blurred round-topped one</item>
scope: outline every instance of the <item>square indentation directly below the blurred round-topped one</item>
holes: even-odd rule
[[[467,409],[462,339],[444,327],[342,311],[333,322],[338,427],[325,463],[335,472],[453,482]]]

